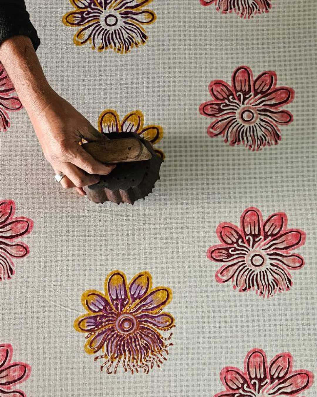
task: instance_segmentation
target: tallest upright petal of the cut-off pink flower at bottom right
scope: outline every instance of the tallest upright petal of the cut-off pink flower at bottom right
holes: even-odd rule
[[[258,393],[267,385],[267,358],[261,349],[252,349],[244,360],[244,370],[248,374],[250,385]]]

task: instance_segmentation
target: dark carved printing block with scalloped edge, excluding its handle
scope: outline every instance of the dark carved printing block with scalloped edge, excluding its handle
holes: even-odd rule
[[[133,204],[140,198],[152,193],[155,182],[160,179],[162,158],[155,153],[150,142],[136,133],[112,132],[106,134],[109,139],[134,137],[139,139],[152,154],[150,160],[123,162],[116,164],[116,168],[109,175],[102,175],[98,183],[85,186],[83,189],[89,200],[96,203],[106,201],[120,204]]]

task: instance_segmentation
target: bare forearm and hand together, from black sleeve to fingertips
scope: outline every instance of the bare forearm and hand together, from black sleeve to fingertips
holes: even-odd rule
[[[27,110],[46,159],[55,173],[63,172],[65,188],[93,185],[115,166],[95,160],[78,143],[106,139],[50,87],[29,37],[14,36],[0,45],[0,62]]]

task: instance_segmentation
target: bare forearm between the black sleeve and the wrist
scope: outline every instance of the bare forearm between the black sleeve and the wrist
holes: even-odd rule
[[[0,45],[0,62],[30,117],[36,116],[54,92],[44,76],[29,37],[15,36],[4,41]]]

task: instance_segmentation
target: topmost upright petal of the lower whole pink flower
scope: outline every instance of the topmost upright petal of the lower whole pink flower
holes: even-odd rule
[[[247,208],[241,215],[241,229],[243,230],[245,241],[251,248],[261,239],[262,225],[262,213],[258,208]]]

